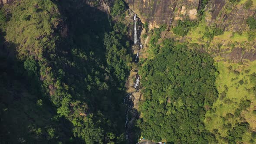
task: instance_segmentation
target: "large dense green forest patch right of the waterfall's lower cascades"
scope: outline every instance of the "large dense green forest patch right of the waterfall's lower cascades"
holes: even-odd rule
[[[145,98],[138,120],[142,136],[174,143],[216,143],[214,134],[203,125],[204,106],[217,99],[215,72],[207,54],[174,46],[171,40],[164,42],[139,72]]]

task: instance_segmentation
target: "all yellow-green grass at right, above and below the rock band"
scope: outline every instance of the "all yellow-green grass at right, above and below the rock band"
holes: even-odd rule
[[[246,0],[241,0],[237,5],[243,5]],[[256,0],[253,0],[253,5],[251,8],[256,7]],[[206,12],[207,14],[207,12]],[[242,47],[244,49],[253,49],[253,42],[248,42],[247,31],[242,31],[242,34],[233,33],[232,31],[225,31],[222,35],[214,36],[213,39],[207,39],[203,37],[203,33],[205,32],[206,20],[203,18],[200,21],[198,27],[195,27],[189,31],[187,34],[188,43],[197,43],[205,45],[207,42],[210,42],[209,49],[216,49],[218,44],[220,49],[230,49],[230,44],[233,44],[235,47]],[[254,40],[254,42],[256,39]],[[231,49],[230,49],[231,50]],[[231,123],[232,127],[237,122],[247,121],[250,124],[250,130],[256,131],[256,115],[252,113],[256,107],[256,97],[253,92],[248,92],[246,90],[252,88],[256,85],[255,82],[250,82],[249,75],[253,72],[256,72],[256,61],[254,62],[244,62],[242,65],[239,65],[234,62],[226,62],[220,56],[215,57],[215,64],[217,65],[218,71],[220,75],[216,79],[216,87],[220,93],[224,91],[224,85],[227,85],[228,91],[226,93],[226,98],[230,99],[232,102],[225,103],[225,98],[223,100],[218,100],[214,103],[213,108],[216,108],[214,112],[207,111],[205,115],[206,118],[204,123],[206,128],[213,132],[214,129],[218,129],[220,133],[220,137],[226,137],[228,129],[223,128],[223,124]],[[233,72],[230,72],[228,67],[232,65],[233,70],[237,70],[240,72],[240,75],[236,75]],[[245,70],[250,70],[249,73],[245,73]],[[236,79],[231,81],[231,79]],[[243,85],[239,85],[239,81],[244,81]],[[247,80],[248,83],[245,81]],[[239,85],[239,86],[238,86]],[[241,118],[230,118],[227,121],[223,121],[222,117],[225,117],[227,113],[232,113],[234,115],[234,111],[239,107],[240,100],[250,100],[251,105],[247,111],[242,111]],[[218,137],[217,137],[218,138]],[[243,135],[242,141],[249,143],[252,139],[251,132],[246,132]],[[225,143],[220,138],[218,140],[221,143]],[[255,140],[254,140],[255,141]]]

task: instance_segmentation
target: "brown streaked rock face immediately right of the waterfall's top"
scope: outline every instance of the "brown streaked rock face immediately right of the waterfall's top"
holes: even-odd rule
[[[177,20],[197,19],[197,10],[200,0],[125,0],[141,18],[143,23],[148,22],[149,28],[159,27],[161,24],[171,25]]]

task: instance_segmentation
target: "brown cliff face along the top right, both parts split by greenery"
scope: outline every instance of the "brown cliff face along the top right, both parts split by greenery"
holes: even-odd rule
[[[150,29],[161,24],[175,25],[177,20],[197,20],[200,0],[125,0]],[[255,15],[255,8],[245,9],[244,4],[225,0],[209,0],[205,9],[207,24],[217,23],[224,30],[246,29],[246,19]]]

